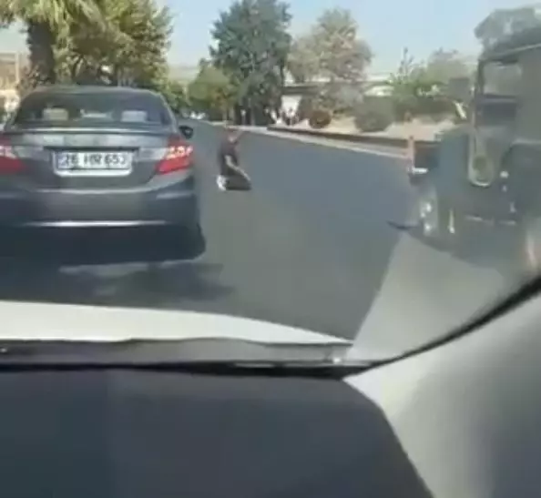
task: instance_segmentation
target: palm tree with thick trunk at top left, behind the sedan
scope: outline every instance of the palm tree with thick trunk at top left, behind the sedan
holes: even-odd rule
[[[70,25],[105,27],[101,15],[107,0],[2,0],[0,23],[15,20],[26,25],[32,86],[56,82],[55,46]]]

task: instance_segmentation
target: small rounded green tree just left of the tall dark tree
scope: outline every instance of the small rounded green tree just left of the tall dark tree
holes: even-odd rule
[[[199,74],[188,86],[190,107],[210,119],[226,119],[235,100],[230,79],[208,61],[201,61]]]

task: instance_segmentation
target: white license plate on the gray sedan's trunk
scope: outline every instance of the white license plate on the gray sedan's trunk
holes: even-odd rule
[[[58,152],[55,167],[60,175],[126,175],[131,152]]]

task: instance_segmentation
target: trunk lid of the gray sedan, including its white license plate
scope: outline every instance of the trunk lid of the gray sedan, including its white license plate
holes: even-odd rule
[[[133,128],[24,128],[2,136],[28,188],[137,188],[153,178],[169,134]]]

